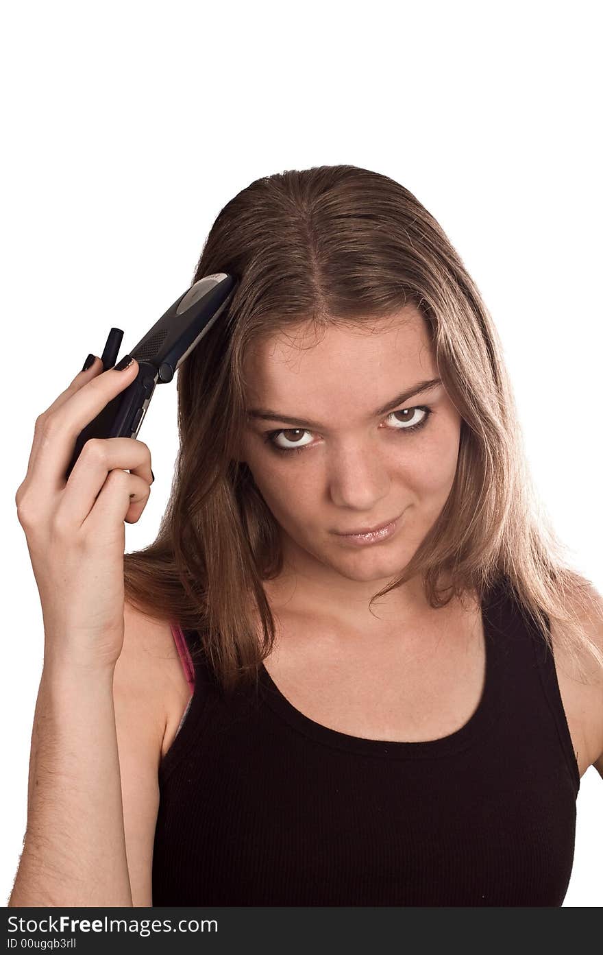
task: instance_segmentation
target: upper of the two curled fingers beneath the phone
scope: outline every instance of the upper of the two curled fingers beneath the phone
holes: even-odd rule
[[[151,486],[151,452],[144,441],[135,437],[94,437],[87,441],[59,494],[56,513],[61,526],[80,527],[94,508],[108,475],[126,469],[130,470],[127,477],[139,477]],[[52,506],[51,498],[52,493],[48,493],[48,507]]]

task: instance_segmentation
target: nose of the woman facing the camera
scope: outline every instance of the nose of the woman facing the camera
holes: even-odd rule
[[[367,515],[375,513],[390,486],[385,461],[363,442],[346,445],[331,456],[328,483],[334,504]]]

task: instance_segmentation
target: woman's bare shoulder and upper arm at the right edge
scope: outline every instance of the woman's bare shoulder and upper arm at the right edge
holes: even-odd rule
[[[591,597],[587,612],[579,608],[577,601],[573,608],[584,633],[603,654],[603,597],[593,587]],[[573,653],[568,650],[554,621],[551,621],[551,642],[572,737],[580,742],[585,767],[593,765],[603,777],[603,666],[586,647]]]

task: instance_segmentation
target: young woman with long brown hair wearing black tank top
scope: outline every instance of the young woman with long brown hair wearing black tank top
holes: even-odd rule
[[[195,274],[239,277],[178,376],[157,540],[141,441],[38,418],[16,501],[44,611],[10,905],[560,905],[603,774],[603,601],[531,490],[458,254],[354,166],[253,182]],[[129,474],[128,470],[129,469]]]

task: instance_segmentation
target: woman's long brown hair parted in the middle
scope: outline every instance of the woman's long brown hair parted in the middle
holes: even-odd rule
[[[156,541],[124,556],[126,600],[198,631],[223,690],[257,681],[276,633],[262,581],[279,574],[282,556],[276,520],[237,456],[244,356],[281,329],[369,325],[411,304],[463,418],[458,464],[438,520],[372,599],[417,574],[434,608],[503,582],[550,646],[554,619],[573,659],[586,648],[603,666],[583,623],[600,605],[534,493],[497,331],[425,206],[395,180],[352,165],[263,177],[218,214],[193,281],[214,272],[234,274],[239,286],[228,321],[178,371],[172,492]]]

